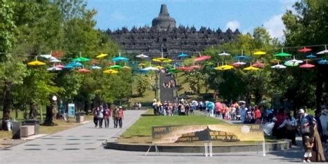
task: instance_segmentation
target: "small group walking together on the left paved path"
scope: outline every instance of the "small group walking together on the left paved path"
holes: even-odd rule
[[[122,128],[122,120],[124,119],[124,113],[122,107],[96,107],[93,109],[93,122],[96,128],[102,128],[102,123],[104,122],[104,127],[109,128],[109,120],[113,118],[113,127]]]

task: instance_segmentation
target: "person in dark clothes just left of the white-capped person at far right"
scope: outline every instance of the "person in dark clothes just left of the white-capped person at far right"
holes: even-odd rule
[[[291,116],[291,113],[286,113],[286,118],[284,119],[284,122],[278,127],[286,127],[286,138],[291,140],[292,145],[297,145],[295,138],[296,138],[296,129],[298,126],[298,122],[296,121],[293,116]]]

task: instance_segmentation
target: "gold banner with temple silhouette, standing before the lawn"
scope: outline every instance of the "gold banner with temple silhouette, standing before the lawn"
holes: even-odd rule
[[[262,125],[182,125],[152,127],[153,143],[179,143],[205,140],[226,142],[263,141]]]

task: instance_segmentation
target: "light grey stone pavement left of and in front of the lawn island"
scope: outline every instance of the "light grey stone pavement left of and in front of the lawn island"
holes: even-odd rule
[[[115,140],[144,111],[125,111],[122,129],[96,129],[93,122],[44,136],[0,151],[2,163],[293,163],[303,155],[300,147],[286,151],[221,153],[212,157],[203,154],[127,152],[104,149],[104,140]],[[299,143],[300,145],[300,143]]]

